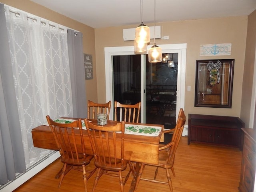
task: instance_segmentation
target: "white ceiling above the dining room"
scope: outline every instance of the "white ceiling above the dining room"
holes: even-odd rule
[[[140,0],[31,0],[92,28],[140,24]],[[248,16],[256,0],[156,0],[156,23]],[[154,23],[154,0],[143,1],[144,24]]]

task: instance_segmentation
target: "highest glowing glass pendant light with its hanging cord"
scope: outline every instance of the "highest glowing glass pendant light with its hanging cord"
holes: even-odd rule
[[[142,22],[143,3],[140,0],[140,25],[135,29],[135,40],[144,43],[150,42],[150,29]]]

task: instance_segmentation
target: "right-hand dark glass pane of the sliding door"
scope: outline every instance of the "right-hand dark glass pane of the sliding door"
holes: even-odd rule
[[[162,54],[161,63],[149,63],[146,55],[146,123],[176,124],[178,53]]]

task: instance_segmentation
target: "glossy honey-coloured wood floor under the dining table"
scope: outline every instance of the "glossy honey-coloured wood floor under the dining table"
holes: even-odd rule
[[[172,176],[174,192],[238,192],[242,152],[238,148],[191,143],[182,137],[178,146]],[[71,170],[58,188],[56,173],[62,167],[56,160],[36,174],[14,192],[81,192],[84,191],[82,172]],[[87,167],[94,168],[94,162]],[[125,173],[127,173],[125,171]],[[142,176],[154,175],[154,168],[146,166]],[[158,170],[158,177],[165,180],[165,171]],[[95,174],[88,180],[88,192],[92,190]],[[132,176],[125,185],[128,192]],[[103,175],[96,192],[120,192],[118,178]],[[166,184],[140,181],[137,192],[169,192]]]

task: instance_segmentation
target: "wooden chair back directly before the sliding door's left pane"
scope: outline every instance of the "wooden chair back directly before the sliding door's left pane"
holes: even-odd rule
[[[115,121],[139,122],[141,102],[133,105],[121,104],[114,101]]]

